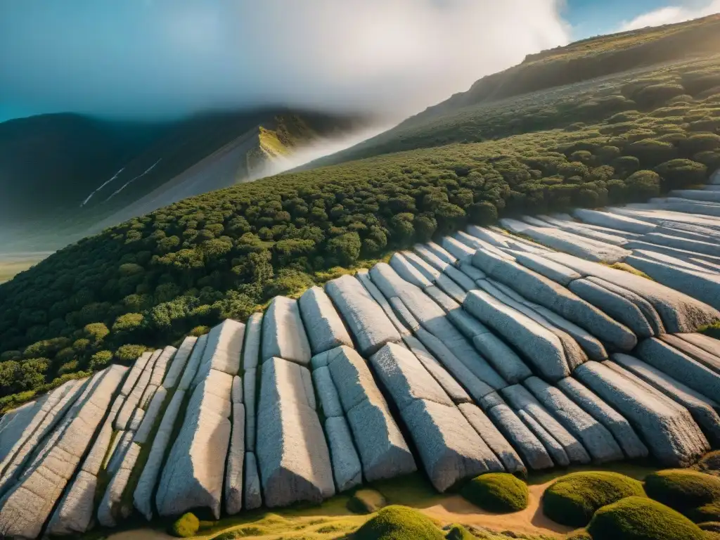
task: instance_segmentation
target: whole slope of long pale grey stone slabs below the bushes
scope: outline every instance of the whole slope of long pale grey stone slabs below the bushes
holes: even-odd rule
[[[68,382],[0,418],[0,531],[319,503],[416,469],[444,492],[690,464],[720,444],[720,342],[696,332],[720,320],[713,181],[470,226]]]

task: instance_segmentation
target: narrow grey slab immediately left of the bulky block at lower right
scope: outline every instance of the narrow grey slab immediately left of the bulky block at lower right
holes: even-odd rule
[[[630,423],[623,415],[588,390],[580,381],[567,377],[557,382],[557,386],[590,416],[598,420],[608,431],[613,433],[629,459],[647,457],[647,446],[640,440]]]

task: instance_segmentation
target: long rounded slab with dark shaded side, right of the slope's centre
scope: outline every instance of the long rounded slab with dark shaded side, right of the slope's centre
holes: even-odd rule
[[[592,331],[601,341],[611,343],[621,351],[629,351],[637,344],[636,336],[625,325],[545,276],[523,268],[514,261],[483,251],[477,251],[472,264],[492,279],[521,292],[523,297],[562,315],[581,328]]]

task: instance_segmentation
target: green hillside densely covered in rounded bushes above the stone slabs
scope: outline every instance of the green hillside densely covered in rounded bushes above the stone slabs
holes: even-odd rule
[[[403,133],[379,156],[136,217],[1,285],[0,407],[467,223],[701,184],[720,167],[720,58],[546,89]]]

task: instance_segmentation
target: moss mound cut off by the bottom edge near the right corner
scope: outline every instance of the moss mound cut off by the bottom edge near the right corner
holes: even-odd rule
[[[645,497],[603,506],[593,516],[593,540],[703,540],[705,534],[683,514]]]

